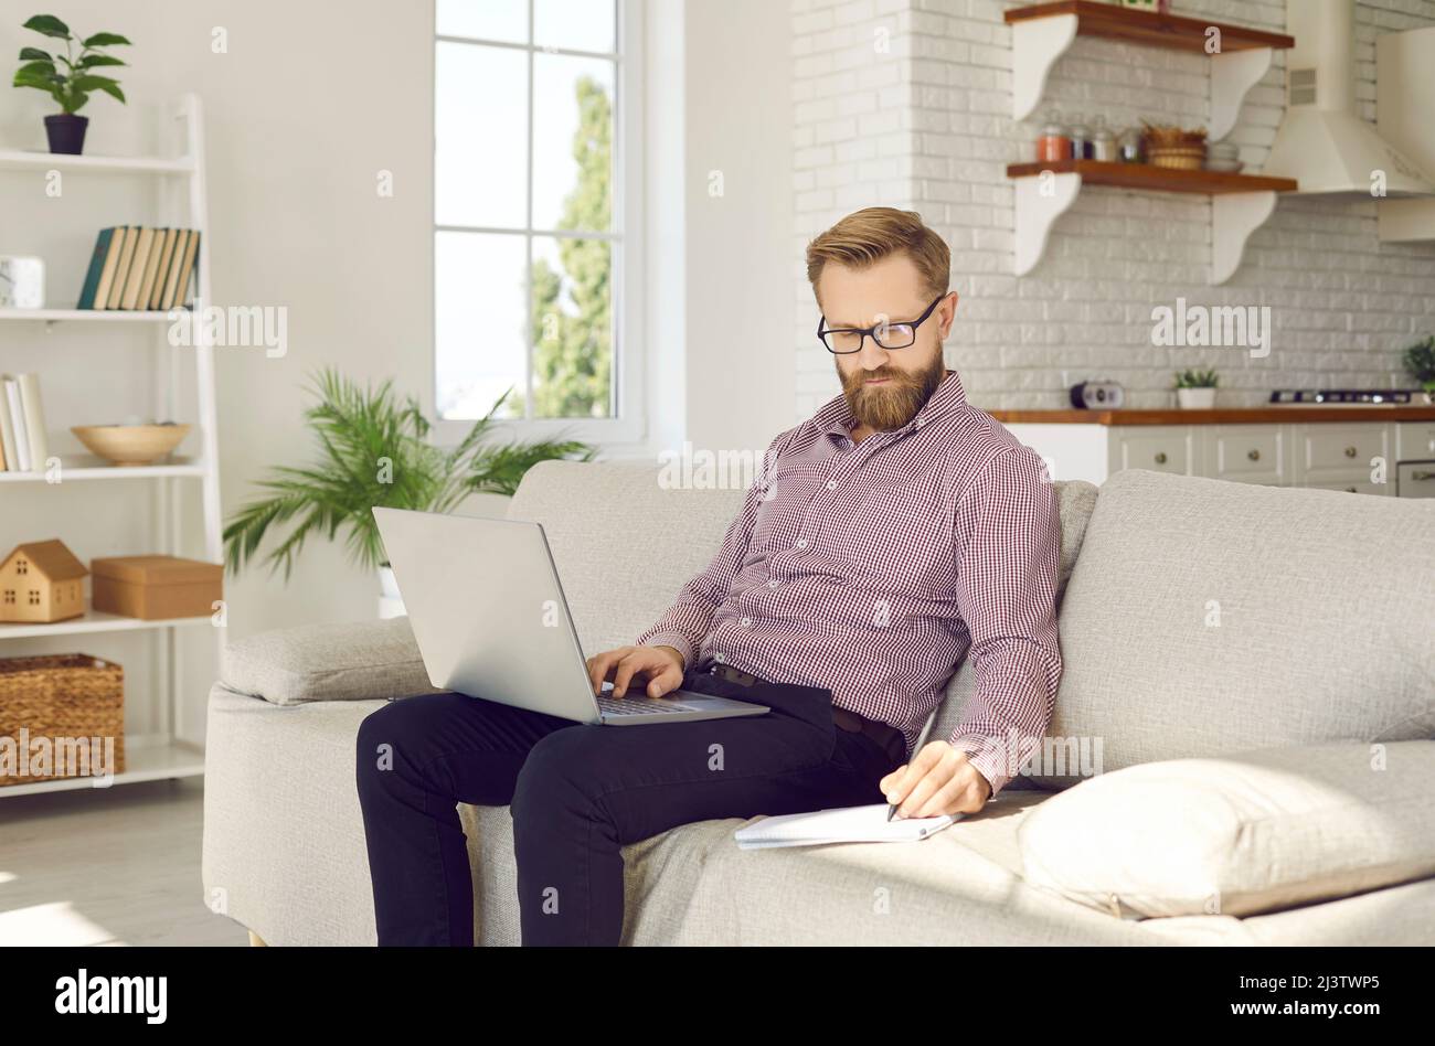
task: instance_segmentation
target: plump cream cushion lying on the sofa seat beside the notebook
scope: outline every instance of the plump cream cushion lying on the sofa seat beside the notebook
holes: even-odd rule
[[[1022,875],[1124,918],[1244,917],[1421,880],[1432,779],[1429,740],[1131,766],[1033,809]]]

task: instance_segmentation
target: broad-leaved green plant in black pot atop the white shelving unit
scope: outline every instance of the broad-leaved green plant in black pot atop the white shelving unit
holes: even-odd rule
[[[43,90],[59,103],[60,112],[44,118],[50,152],[77,156],[85,151],[85,129],[89,126],[89,116],[80,116],[79,110],[89,102],[90,93],[103,90],[122,105],[125,102],[119,83],[95,72],[125,63],[99,49],[129,44],[129,40],[118,33],[95,33],[80,40],[53,14],[36,14],[24,23],[24,29],[65,43],[63,55],[59,50],[50,55],[40,47],[22,47],[20,60],[24,65],[14,75],[14,86]],[[75,53],[76,46],[79,55]]]

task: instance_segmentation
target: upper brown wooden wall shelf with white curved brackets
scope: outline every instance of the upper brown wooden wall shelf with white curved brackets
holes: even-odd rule
[[[1220,30],[1220,52],[1211,55],[1213,142],[1231,133],[1246,95],[1270,69],[1271,55],[1296,46],[1294,37],[1283,33],[1093,0],[1013,7],[1003,17],[1012,26],[1012,118],[1017,121],[1030,116],[1040,103],[1052,66],[1078,36],[1207,53],[1210,30]]]

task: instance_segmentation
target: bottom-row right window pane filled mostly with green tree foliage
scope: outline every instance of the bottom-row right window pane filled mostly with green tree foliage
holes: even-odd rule
[[[534,238],[534,418],[613,416],[613,251]]]

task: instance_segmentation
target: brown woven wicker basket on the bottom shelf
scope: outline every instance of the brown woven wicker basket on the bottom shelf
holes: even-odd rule
[[[0,659],[0,738],[13,739],[13,746],[4,748],[14,755],[13,763],[9,753],[0,759],[0,788],[85,776],[100,769],[122,773],[125,670],[89,654]],[[112,759],[105,752],[110,738],[115,739]],[[67,743],[69,739],[75,743]],[[47,749],[42,766],[33,765],[37,742],[44,742]],[[26,748],[29,766],[22,756]],[[88,755],[88,768],[70,753]]]

